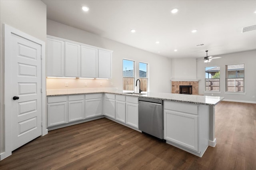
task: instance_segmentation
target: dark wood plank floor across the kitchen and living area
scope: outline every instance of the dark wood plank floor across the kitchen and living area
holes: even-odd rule
[[[202,158],[103,118],[52,130],[0,169],[256,170],[256,104],[222,101],[215,125],[217,145]]]

